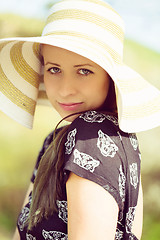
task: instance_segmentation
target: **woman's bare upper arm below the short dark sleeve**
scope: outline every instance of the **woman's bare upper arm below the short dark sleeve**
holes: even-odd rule
[[[111,194],[74,173],[70,173],[66,188],[69,240],[113,240],[118,204]]]

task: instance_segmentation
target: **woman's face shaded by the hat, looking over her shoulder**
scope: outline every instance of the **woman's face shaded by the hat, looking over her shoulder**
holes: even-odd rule
[[[42,55],[47,96],[62,118],[103,105],[110,82],[103,68],[76,53],[49,45],[42,46]]]

